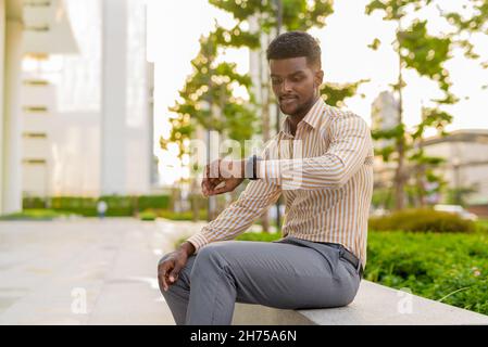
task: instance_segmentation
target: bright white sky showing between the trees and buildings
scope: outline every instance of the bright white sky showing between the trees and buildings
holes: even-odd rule
[[[380,13],[368,16],[364,13],[367,0],[335,1],[335,13],[327,17],[327,25],[309,33],[321,42],[325,80],[329,82],[353,82],[360,79],[371,81],[362,85],[358,92],[364,98],[346,100],[346,108],[356,113],[371,124],[371,105],[374,99],[389,85],[396,81],[398,63],[390,42],[395,37],[395,25],[381,20]],[[455,9],[455,2],[452,10]],[[167,136],[170,125],[168,106],[174,105],[178,90],[192,73],[190,61],[199,50],[199,38],[208,34],[215,21],[230,27],[233,17],[212,7],[207,0],[161,1],[148,0],[148,57],[155,62],[155,139]],[[421,14],[429,20],[428,29],[440,30],[443,23],[436,21],[430,12]],[[379,50],[367,48],[375,38],[383,44]],[[475,36],[472,39],[475,51],[488,60],[488,37]],[[238,64],[241,73],[249,70],[249,52],[245,49],[229,50],[225,60]],[[448,130],[488,129],[488,69],[483,69],[473,61],[465,60],[461,52],[446,65],[453,82],[452,91],[461,101],[448,111],[454,116]],[[420,121],[422,104],[428,106],[428,100],[440,97],[436,83],[406,73],[409,86],[403,93],[404,121],[413,127]],[[157,155],[162,159],[166,175],[165,183],[173,182],[178,174],[175,152],[163,153],[155,144]],[[168,165],[168,167],[167,167]],[[174,168],[172,170],[172,168]],[[170,174],[171,172],[171,174]]]

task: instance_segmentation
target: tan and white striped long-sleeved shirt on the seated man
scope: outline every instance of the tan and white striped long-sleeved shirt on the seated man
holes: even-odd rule
[[[373,144],[358,115],[320,99],[298,124],[288,117],[258,162],[258,180],[216,219],[189,237],[196,252],[232,240],[285,198],[283,237],[338,243],[366,265],[367,218],[373,194]]]

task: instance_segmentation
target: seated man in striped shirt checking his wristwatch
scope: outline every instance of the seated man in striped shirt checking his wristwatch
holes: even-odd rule
[[[321,48],[310,35],[278,36],[267,60],[273,92],[287,118],[261,158],[207,167],[205,196],[233,191],[245,177],[251,181],[215,220],[160,260],[161,293],[177,324],[230,324],[236,301],[281,309],[339,307],[358,292],[373,191],[370,129],[361,117],[321,99]],[[228,241],[280,194],[286,200],[283,239]]]

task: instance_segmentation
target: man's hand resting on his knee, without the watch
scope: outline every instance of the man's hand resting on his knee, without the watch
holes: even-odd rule
[[[179,271],[185,267],[188,257],[195,252],[195,247],[191,244],[187,246],[187,244],[189,243],[185,242],[180,249],[173,252],[167,259],[158,266],[158,281],[164,292],[176,282]]]

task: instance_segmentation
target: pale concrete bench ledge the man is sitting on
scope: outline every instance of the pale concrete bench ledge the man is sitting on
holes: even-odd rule
[[[437,325],[488,324],[488,316],[361,281],[354,301],[328,309],[281,310],[236,304],[233,324],[252,325]]]

